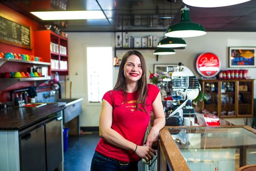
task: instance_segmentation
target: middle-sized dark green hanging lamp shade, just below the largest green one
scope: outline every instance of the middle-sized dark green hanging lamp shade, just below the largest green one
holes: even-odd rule
[[[185,40],[176,37],[167,37],[158,42],[158,48],[179,48],[187,46]]]

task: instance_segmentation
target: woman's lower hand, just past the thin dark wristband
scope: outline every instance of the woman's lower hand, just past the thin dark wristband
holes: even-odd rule
[[[156,152],[153,148],[149,146],[137,146],[137,149],[135,153],[142,159],[145,159],[146,162],[150,161],[153,159],[153,155],[156,155]]]

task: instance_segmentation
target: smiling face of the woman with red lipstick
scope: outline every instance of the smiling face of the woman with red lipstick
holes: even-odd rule
[[[140,58],[136,55],[131,55],[127,58],[124,67],[123,74],[126,81],[138,81],[142,76],[142,67]]]

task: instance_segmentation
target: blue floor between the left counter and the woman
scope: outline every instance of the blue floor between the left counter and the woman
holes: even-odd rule
[[[93,132],[81,136],[69,136],[69,147],[64,153],[64,171],[88,171],[95,147],[99,141],[99,133]],[[140,161],[139,171],[144,171],[145,166]]]

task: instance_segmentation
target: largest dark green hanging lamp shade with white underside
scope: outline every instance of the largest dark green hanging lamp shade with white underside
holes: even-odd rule
[[[189,8],[186,6],[181,9],[180,22],[169,26],[165,32],[167,37],[196,37],[205,34],[206,31],[202,25],[191,22]]]

